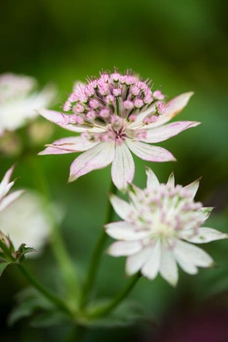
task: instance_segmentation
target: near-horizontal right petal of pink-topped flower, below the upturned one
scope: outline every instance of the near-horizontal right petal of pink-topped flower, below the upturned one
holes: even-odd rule
[[[179,134],[187,128],[198,125],[200,125],[200,122],[197,121],[178,121],[158,128],[146,129],[146,137],[142,138],[141,141],[145,143],[159,143]]]

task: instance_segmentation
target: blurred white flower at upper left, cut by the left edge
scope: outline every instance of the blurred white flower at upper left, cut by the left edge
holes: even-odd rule
[[[36,80],[28,76],[0,75],[0,135],[22,127],[26,120],[38,115],[36,109],[51,104],[56,93],[54,88],[46,86],[37,92],[36,84]]]

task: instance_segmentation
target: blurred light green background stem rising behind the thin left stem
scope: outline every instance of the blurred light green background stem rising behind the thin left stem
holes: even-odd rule
[[[51,196],[48,190],[48,184],[45,176],[43,175],[40,163],[37,162],[37,158],[39,157],[29,157],[30,164],[33,168],[35,184],[37,189],[44,194],[47,202],[50,203]],[[71,305],[73,304],[74,306],[78,306],[77,302],[79,301],[80,297],[80,289],[74,264],[63,244],[60,227],[56,220],[53,209],[49,206],[48,208],[44,208],[44,210],[46,210],[51,222],[51,247],[62,272],[62,277],[67,288],[67,296]],[[72,300],[75,298],[76,301]]]

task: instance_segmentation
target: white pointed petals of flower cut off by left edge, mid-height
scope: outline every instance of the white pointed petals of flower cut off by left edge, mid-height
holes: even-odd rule
[[[12,172],[14,170],[14,166],[12,166],[4,175],[0,182],[0,212],[7,208],[13,201],[15,201],[23,192],[23,190],[18,190],[15,192],[11,192],[7,195],[7,193],[10,191],[12,186],[15,183],[15,180],[10,182],[10,178],[12,175]]]

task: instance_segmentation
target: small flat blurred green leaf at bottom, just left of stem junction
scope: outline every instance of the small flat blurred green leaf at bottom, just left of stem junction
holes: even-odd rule
[[[59,326],[62,324],[70,323],[72,320],[69,316],[63,314],[60,311],[49,311],[38,314],[35,316],[30,325],[34,328],[48,327],[48,326]]]

